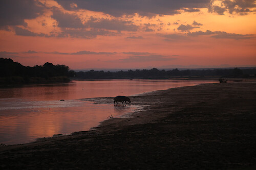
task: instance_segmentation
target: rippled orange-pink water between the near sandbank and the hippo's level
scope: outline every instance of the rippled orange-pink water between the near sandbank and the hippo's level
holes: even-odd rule
[[[111,101],[112,102],[112,101]],[[13,103],[13,104],[11,104]],[[16,144],[54,134],[86,131],[113,115],[122,117],[136,106],[68,101],[8,101],[0,107],[0,143]]]

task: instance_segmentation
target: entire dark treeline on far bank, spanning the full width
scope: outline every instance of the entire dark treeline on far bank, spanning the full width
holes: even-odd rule
[[[186,69],[159,70],[136,69],[128,71],[78,71],[70,70],[66,65],[23,66],[12,59],[0,58],[0,85],[36,84],[50,82],[67,82],[73,79],[166,79],[166,78],[255,78],[256,68],[222,68],[222,69]]]

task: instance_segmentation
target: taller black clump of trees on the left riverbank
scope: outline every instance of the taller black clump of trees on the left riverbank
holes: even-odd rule
[[[74,77],[75,72],[69,70],[66,65],[53,65],[46,62],[44,65],[33,67],[23,66],[12,59],[0,58],[0,83],[23,84],[70,81],[68,77]]]

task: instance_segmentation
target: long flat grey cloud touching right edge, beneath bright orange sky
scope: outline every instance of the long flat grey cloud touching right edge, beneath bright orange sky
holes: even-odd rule
[[[211,35],[210,37],[212,38],[224,38],[224,39],[250,39],[250,38],[255,38],[256,35],[253,34],[232,34],[232,33],[227,33],[224,31],[209,31],[207,30],[206,32],[203,31],[197,31],[193,33],[187,33],[188,36],[202,36],[202,35]]]

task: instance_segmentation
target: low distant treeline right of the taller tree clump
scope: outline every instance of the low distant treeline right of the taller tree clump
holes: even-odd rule
[[[79,71],[76,72],[77,78],[82,79],[165,79],[165,78],[204,78],[204,77],[223,77],[223,78],[248,78],[255,77],[255,68],[230,68],[230,69],[187,69],[187,70],[159,70],[136,69],[128,71]]]

